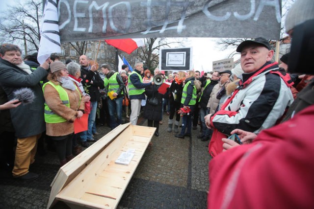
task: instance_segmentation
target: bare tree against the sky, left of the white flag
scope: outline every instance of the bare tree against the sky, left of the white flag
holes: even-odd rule
[[[42,0],[27,0],[10,6],[1,14],[1,42],[25,45],[25,54],[38,51],[40,42],[39,24],[42,18]]]

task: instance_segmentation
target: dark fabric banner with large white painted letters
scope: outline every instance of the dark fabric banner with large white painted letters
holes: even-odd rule
[[[61,42],[280,37],[281,0],[59,0],[57,7]]]

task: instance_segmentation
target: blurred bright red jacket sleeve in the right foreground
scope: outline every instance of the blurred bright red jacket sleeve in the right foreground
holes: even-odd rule
[[[314,105],[209,163],[210,209],[314,208]]]

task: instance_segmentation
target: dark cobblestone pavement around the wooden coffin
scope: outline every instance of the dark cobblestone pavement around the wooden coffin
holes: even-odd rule
[[[140,118],[139,125],[147,126]],[[192,130],[192,139],[174,137],[168,133],[168,116],[163,115],[159,137],[152,139],[153,146],[147,149],[139,163],[118,209],[206,209],[208,141],[197,139],[200,126]],[[107,134],[107,126],[97,126],[100,137]],[[44,209],[50,196],[50,184],[59,169],[54,152],[36,156],[30,171],[39,174],[31,182],[14,180],[9,171],[1,171],[0,209]],[[68,209],[58,202],[54,209]]]

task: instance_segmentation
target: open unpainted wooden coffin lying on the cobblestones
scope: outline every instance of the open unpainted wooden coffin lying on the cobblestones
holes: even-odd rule
[[[70,208],[116,208],[156,128],[123,124],[62,166],[52,181],[47,208],[63,201]],[[115,161],[134,152],[128,165]]]

